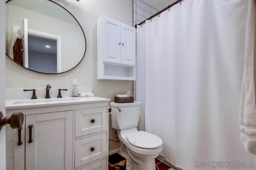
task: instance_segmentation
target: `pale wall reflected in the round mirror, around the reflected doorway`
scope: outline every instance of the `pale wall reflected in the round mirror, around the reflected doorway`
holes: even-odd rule
[[[10,46],[10,42],[12,41],[13,25],[20,26],[22,20],[26,18],[28,19],[28,29],[61,36],[62,71],[70,70],[82,59],[85,41],[78,24],[68,23],[17,6],[8,4],[7,6],[9,6],[8,25],[6,25],[8,27],[8,46]],[[57,8],[61,7],[57,6]],[[62,11],[66,12],[64,9]]]

